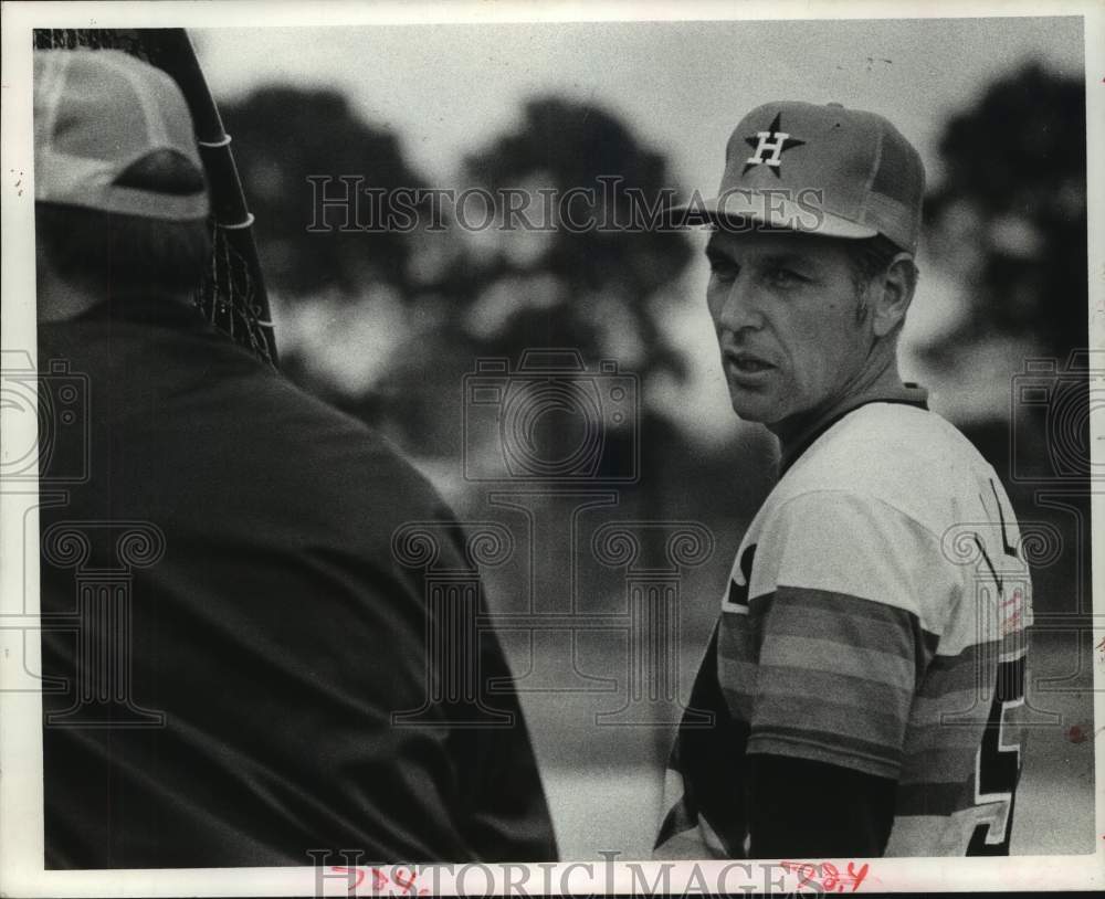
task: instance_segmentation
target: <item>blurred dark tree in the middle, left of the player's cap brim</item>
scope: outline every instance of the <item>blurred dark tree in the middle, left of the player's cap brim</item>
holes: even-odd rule
[[[496,208],[506,228],[480,265],[482,289],[467,322],[483,350],[575,347],[644,376],[682,377],[654,300],[688,262],[690,242],[643,221],[671,188],[661,154],[609,112],[547,96],[527,103],[518,127],[470,156],[465,168],[496,199],[505,189],[526,191],[535,201],[527,220],[554,225],[519,230],[503,204]],[[543,202],[539,191],[551,199]],[[571,199],[570,191],[577,191]],[[505,297],[502,307],[496,303],[504,286],[514,293],[508,308]]]

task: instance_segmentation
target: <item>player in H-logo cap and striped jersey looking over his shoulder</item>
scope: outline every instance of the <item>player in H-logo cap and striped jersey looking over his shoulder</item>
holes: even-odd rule
[[[767,103],[706,222],[734,411],[780,479],[672,752],[657,857],[1008,854],[1031,592],[993,469],[903,383],[920,157],[885,118]]]

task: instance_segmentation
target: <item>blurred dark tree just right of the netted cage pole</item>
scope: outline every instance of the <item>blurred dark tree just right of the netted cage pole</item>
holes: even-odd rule
[[[380,385],[406,339],[409,300],[425,265],[411,264],[420,254],[417,229],[376,226],[372,192],[419,189],[424,179],[397,137],[364,121],[336,91],[262,87],[224,104],[222,114],[256,216],[282,369],[383,424]],[[350,176],[361,179],[357,204],[319,202],[348,195],[340,179]],[[352,228],[341,228],[346,222]]]

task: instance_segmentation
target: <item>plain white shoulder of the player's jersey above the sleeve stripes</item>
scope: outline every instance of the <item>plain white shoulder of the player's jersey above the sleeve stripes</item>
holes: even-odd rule
[[[987,470],[932,412],[890,403],[851,412],[786,473],[749,528],[750,594],[785,585],[872,601],[943,633],[960,577],[945,539],[978,520]]]

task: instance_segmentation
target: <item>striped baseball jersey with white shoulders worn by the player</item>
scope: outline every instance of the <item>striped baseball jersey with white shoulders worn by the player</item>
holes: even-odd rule
[[[657,857],[743,857],[747,757],[896,782],[885,854],[1008,854],[1031,584],[992,468],[871,402],[786,470],[741,541],[665,785]],[[815,802],[817,797],[811,797]]]

